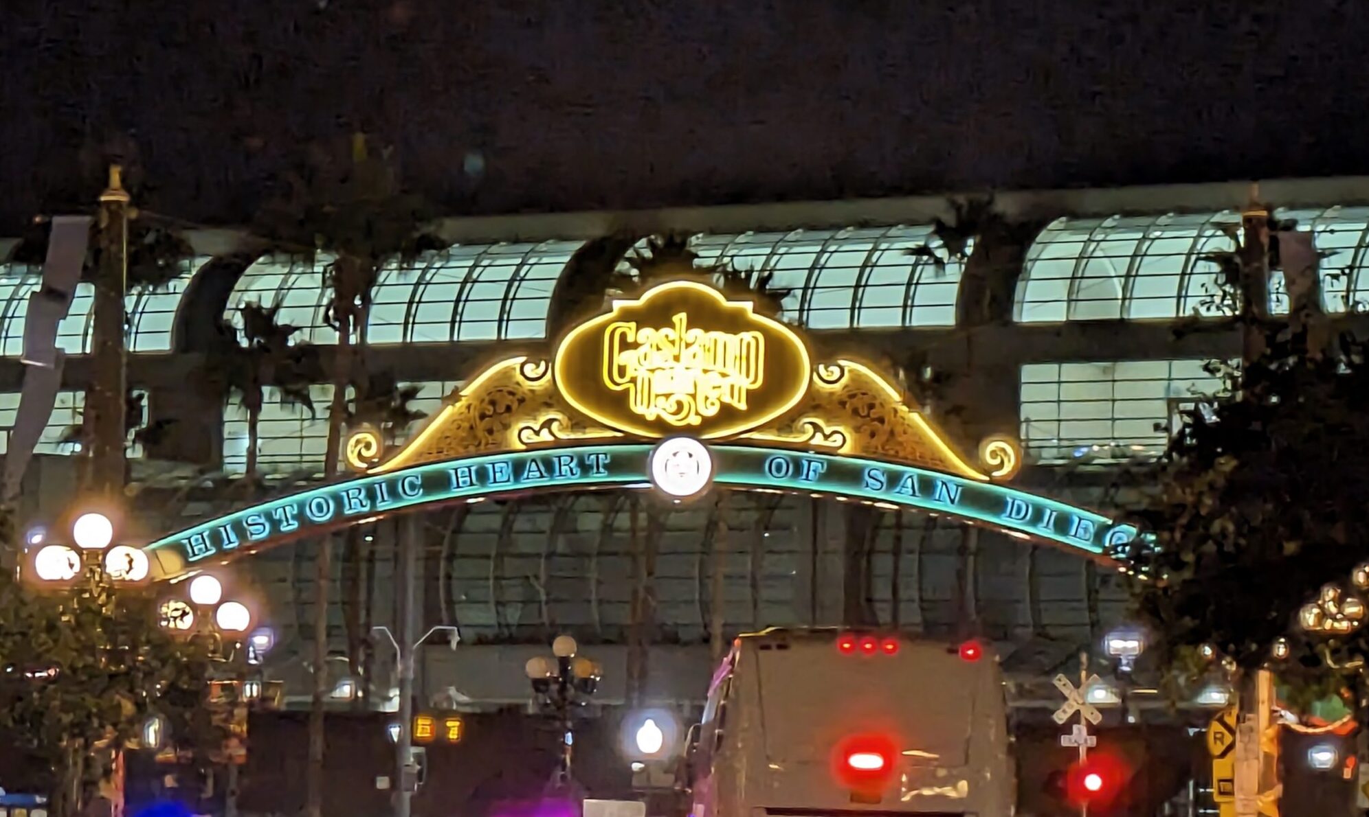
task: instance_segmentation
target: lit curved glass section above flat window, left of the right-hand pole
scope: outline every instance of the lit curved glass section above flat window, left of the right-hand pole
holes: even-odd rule
[[[1027,250],[1021,323],[1214,316],[1220,271],[1205,255],[1236,248],[1235,212],[1057,219]]]

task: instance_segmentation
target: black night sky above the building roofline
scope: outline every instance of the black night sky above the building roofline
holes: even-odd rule
[[[1369,172],[1369,3],[4,0],[0,234],[241,223],[363,129],[452,213]],[[1177,11],[1176,11],[1177,10]]]

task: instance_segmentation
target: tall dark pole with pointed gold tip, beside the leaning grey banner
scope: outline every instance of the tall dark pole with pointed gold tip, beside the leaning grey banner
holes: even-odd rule
[[[110,166],[100,194],[100,265],[94,279],[92,376],[86,390],[85,442],[90,446],[86,484],[94,494],[122,497],[125,479],[126,352],[125,293],[129,279],[129,193],[122,168]]]

